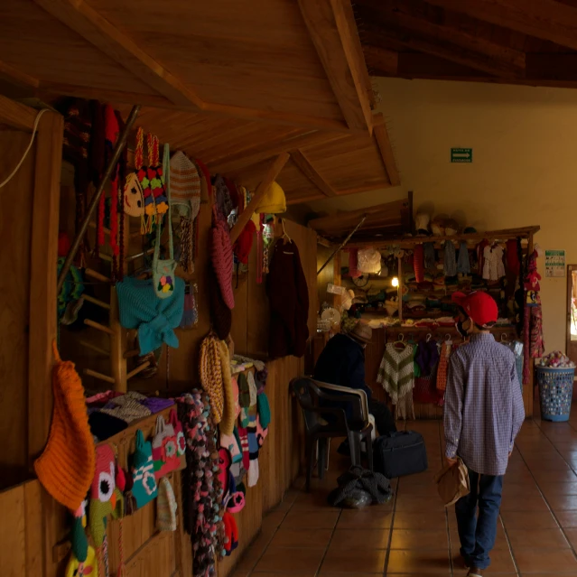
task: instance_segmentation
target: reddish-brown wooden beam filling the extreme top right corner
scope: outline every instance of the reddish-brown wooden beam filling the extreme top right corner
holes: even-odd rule
[[[577,8],[555,0],[427,0],[445,10],[467,14],[577,50]]]

